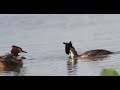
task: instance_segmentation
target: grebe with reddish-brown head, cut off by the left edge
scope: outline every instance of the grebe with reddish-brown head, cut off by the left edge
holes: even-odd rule
[[[0,68],[7,68],[7,67],[22,67],[23,66],[23,59],[25,57],[19,57],[18,53],[27,53],[22,50],[22,48],[13,45],[11,49],[11,54],[6,54],[4,56],[0,56]]]

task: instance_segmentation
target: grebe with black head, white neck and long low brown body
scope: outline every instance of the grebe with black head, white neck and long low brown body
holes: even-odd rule
[[[70,57],[72,59],[76,59],[77,57],[81,57],[81,58],[99,57],[102,55],[108,55],[108,54],[113,53],[113,52],[110,52],[110,51],[104,50],[104,49],[96,49],[96,50],[90,50],[90,51],[84,52],[83,54],[78,55],[78,53],[75,50],[75,48],[73,47],[71,41],[69,43],[63,42],[63,44],[65,44],[66,54],[69,55],[69,53],[70,53]]]

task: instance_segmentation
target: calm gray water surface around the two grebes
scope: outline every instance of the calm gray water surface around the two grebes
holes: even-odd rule
[[[103,68],[120,72],[120,54],[103,60],[69,62],[63,42],[72,41],[78,53],[92,49],[120,51],[119,14],[1,14],[0,55],[12,45],[22,47],[23,68],[0,76],[99,76]]]

